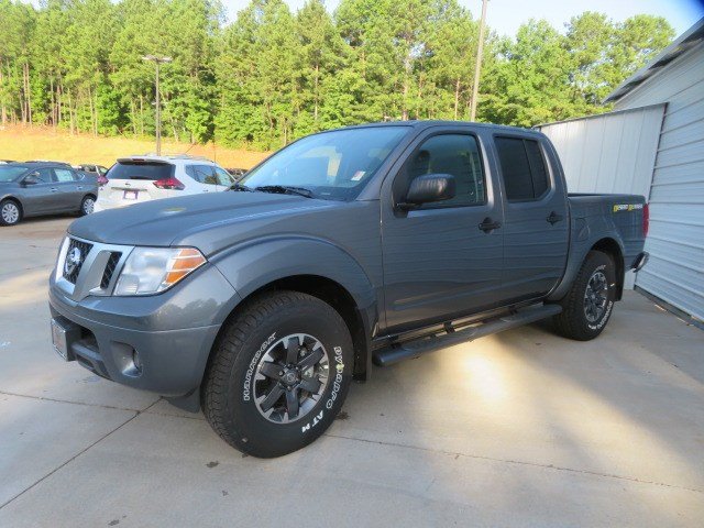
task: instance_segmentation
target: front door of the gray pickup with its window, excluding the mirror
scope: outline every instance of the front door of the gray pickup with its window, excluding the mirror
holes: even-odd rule
[[[410,182],[426,174],[455,178],[454,198],[403,211]],[[501,287],[502,205],[494,199],[479,140],[430,134],[417,142],[382,205],[386,326],[403,331],[480,311]],[[482,226],[482,227],[481,227]]]

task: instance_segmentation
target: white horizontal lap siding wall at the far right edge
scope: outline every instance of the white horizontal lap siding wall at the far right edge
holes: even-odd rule
[[[650,262],[636,284],[704,320],[704,43],[622,98],[667,102],[650,189]]]

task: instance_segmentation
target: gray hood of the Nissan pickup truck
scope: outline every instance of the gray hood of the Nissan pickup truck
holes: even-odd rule
[[[198,233],[226,228],[246,238],[248,223],[280,219],[314,210],[332,208],[339,202],[268,193],[217,193],[153,200],[127,208],[110,209],[80,218],[68,232],[81,239],[125,245],[189,245]],[[272,218],[274,217],[274,218]],[[229,229],[231,226],[231,229]],[[240,238],[240,237],[235,237]],[[202,249],[201,249],[202,250]],[[216,250],[208,248],[208,250]]]

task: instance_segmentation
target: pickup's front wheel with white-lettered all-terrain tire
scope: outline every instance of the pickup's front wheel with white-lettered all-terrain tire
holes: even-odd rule
[[[201,406],[230,446],[280,457],[330,427],[350,388],[352,361],[350,332],[331,306],[298,292],[264,294],[223,328]]]

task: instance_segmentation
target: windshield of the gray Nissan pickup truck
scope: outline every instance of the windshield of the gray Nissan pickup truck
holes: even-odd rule
[[[408,130],[380,127],[309,135],[250,170],[240,183],[250,189],[290,187],[310,191],[314,198],[352,200]]]

